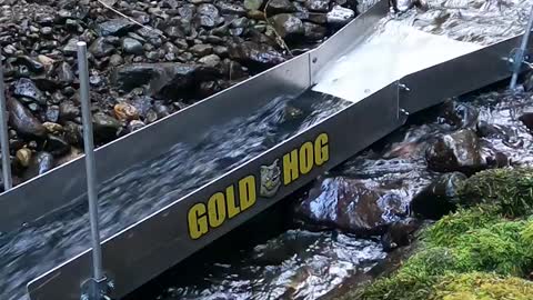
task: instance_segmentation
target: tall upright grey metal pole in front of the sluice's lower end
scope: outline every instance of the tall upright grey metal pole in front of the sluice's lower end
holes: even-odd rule
[[[89,197],[89,216],[92,237],[92,271],[97,282],[104,281],[102,272],[102,250],[100,246],[100,228],[98,221],[98,190],[94,163],[94,143],[92,140],[92,116],[89,99],[89,69],[87,61],[87,43],[78,42],[78,69],[80,72],[80,98],[83,120],[83,143],[86,150],[87,193]]]

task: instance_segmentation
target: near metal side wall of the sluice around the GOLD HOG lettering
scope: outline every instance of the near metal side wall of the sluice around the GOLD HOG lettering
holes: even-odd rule
[[[112,297],[122,297],[131,292],[325,170],[399,128],[402,122],[396,117],[396,97],[395,83],[385,87],[105,240],[102,246],[103,266],[107,274],[115,281]],[[372,128],[372,134],[369,134],[369,128]],[[324,132],[328,134],[329,147],[326,162],[311,169],[290,184],[281,186],[275,197],[270,199],[259,197],[254,206],[229,219],[219,228],[211,229],[204,237],[195,240],[189,237],[188,211],[193,204],[207,201],[215,192],[237,184],[239,179],[248,176],[260,178],[261,166],[271,164],[276,159],[282,163],[285,153],[299,149],[308,141],[313,141]],[[257,188],[259,189],[258,184]],[[79,299],[79,283],[90,276],[90,256],[91,251],[88,250],[31,281],[28,284],[31,299]]]

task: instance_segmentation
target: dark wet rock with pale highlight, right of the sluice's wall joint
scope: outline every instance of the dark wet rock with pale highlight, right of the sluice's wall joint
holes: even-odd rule
[[[475,132],[463,129],[439,137],[428,148],[425,159],[433,171],[472,174],[484,167],[480,150]]]

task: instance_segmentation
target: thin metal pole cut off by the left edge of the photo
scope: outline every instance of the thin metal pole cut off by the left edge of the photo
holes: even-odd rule
[[[9,158],[8,113],[6,110],[6,88],[3,86],[3,66],[0,61],[0,147],[2,150],[3,189],[7,191],[13,186],[11,180],[11,160]]]

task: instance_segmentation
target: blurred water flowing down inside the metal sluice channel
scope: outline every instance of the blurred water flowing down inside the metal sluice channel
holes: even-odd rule
[[[311,91],[294,99],[279,97],[247,118],[213,128],[195,144],[178,143],[133,166],[99,192],[102,239],[346,106]],[[87,200],[77,203],[1,238],[2,299],[21,299],[29,280],[89,248]]]

